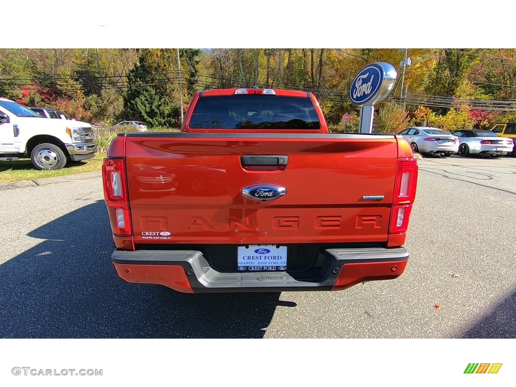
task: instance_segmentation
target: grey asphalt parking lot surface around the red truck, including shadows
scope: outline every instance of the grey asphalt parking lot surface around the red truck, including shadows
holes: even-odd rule
[[[0,191],[0,337],[516,337],[516,158],[419,165],[405,274],[341,292],[126,284],[100,178]]]

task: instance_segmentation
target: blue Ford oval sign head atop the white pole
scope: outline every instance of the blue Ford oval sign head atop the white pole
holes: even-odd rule
[[[397,75],[394,66],[386,62],[376,62],[364,67],[351,84],[351,102],[366,106],[383,100],[391,92]]]

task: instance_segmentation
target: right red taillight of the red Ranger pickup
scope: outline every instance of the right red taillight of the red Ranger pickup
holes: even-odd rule
[[[415,158],[398,159],[390,234],[407,232],[416,186],[417,160]]]

